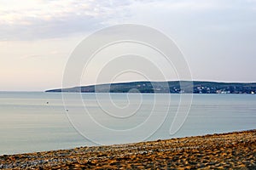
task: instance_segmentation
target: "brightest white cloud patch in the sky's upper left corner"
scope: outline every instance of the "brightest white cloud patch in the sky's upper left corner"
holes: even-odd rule
[[[37,3],[34,3],[37,2]],[[102,7],[92,6],[90,1],[75,3],[70,0],[64,1],[10,1],[1,5],[1,23],[15,24],[29,18],[39,20],[55,20],[65,18],[71,14],[97,16]]]

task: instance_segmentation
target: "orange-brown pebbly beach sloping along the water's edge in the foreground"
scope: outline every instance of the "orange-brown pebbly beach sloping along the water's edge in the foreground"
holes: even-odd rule
[[[256,130],[0,156],[0,169],[256,169]]]

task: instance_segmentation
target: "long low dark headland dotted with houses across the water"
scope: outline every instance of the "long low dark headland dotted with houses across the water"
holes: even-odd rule
[[[181,85],[182,84],[182,87]],[[256,82],[118,82],[45,92],[65,93],[142,93],[142,94],[256,94]]]

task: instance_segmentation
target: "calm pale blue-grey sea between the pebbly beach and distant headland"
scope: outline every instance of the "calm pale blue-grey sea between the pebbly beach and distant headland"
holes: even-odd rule
[[[165,102],[167,95],[170,105]],[[170,127],[180,101],[178,94],[82,94],[83,104],[77,94],[67,96],[70,100],[64,106],[61,94],[1,92],[0,155],[256,128],[256,95],[194,94],[187,119],[172,135]],[[73,116],[88,113],[90,118],[87,116],[83,125],[74,122]],[[91,120],[102,128],[94,127]],[[146,121],[148,127],[141,126]],[[135,128],[138,130],[131,132],[137,133],[128,133]],[[116,132],[123,135],[115,136],[120,135]]]

